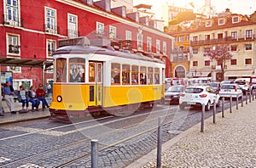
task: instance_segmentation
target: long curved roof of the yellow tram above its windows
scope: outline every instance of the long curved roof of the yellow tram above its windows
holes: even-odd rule
[[[160,63],[164,64],[163,61],[160,59],[155,59],[155,58],[150,58],[148,56],[145,56],[143,54],[139,55],[136,53],[125,53],[125,52],[120,52],[116,51],[113,48],[99,48],[96,46],[65,46],[62,48],[58,48],[54,55],[56,54],[67,54],[67,53],[75,53],[75,54],[82,54],[82,53],[97,53],[97,54],[106,54],[110,56],[116,56],[116,57],[121,57],[125,59],[138,59],[138,60],[144,60],[144,61],[150,61],[150,62],[155,62],[155,63]]]

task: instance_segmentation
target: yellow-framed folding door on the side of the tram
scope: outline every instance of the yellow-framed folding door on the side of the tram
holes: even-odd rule
[[[89,62],[89,106],[102,105],[102,63]]]

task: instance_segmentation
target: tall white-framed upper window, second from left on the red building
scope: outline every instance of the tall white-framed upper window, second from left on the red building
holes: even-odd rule
[[[57,33],[55,9],[45,8],[45,31],[54,34]]]

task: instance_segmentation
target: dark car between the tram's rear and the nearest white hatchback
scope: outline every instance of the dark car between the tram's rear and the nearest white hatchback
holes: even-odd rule
[[[165,92],[165,102],[168,104],[178,104],[180,93],[184,92],[184,88],[185,86],[183,85],[169,87]]]

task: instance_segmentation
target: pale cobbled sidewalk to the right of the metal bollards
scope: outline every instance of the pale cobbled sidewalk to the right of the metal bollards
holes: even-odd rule
[[[256,101],[233,108],[232,113],[227,110],[224,118],[218,114],[216,124],[206,120],[203,133],[200,125],[195,125],[172,139],[163,149],[162,167],[256,167],[254,108]],[[156,167],[154,158],[147,158],[144,165],[143,159],[137,160],[130,167]]]

